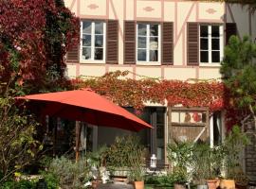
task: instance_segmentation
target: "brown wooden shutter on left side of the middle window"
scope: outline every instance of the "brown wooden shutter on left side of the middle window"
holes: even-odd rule
[[[124,23],[124,63],[136,63],[136,23],[125,21]]]

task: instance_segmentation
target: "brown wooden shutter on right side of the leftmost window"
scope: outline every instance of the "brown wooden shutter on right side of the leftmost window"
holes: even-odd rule
[[[106,63],[119,63],[119,21],[108,20],[106,33]]]

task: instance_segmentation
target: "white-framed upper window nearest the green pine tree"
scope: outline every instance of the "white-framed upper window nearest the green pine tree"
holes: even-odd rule
[[[219,63],[223,58],[223,26],[200,26],[200,62]]]

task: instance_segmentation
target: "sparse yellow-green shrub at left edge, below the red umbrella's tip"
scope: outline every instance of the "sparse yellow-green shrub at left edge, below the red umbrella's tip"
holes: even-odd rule
[[[14,90],[0,85],[0,183],[13,177],[14,172],[31,163],[43,146],[34,139],[38,125],[26,110],[15,106]]]

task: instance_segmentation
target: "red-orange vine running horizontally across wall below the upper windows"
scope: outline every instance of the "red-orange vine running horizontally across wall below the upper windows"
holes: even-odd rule
[[[120,106],[134,107],[141,112],[145,102],[183,105],[184,107],[209,107],[210,112],[226,110],[228,129],[239,120],[238,112],[232,106],[229,91],[219,81],[180,81],[127,77],[128,71],[112,72],[102,77],[78,77],[73,79],[75,89],[91,88],[105,95]],[[239,115],[239,114],[238,114]]]

